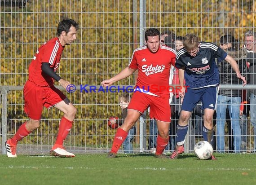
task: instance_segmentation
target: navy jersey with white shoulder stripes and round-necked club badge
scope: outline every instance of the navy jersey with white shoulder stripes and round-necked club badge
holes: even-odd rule
[[[185,48],[182,48],[176,56],[176,67],[185,67],[184,79],[186,86],[191,89],[214,87],[220,83],[219,70],[216,66],[216,58],[225,58],[227,53],[209,42],[199,42],[199,52],[195,57],[190,56]]]

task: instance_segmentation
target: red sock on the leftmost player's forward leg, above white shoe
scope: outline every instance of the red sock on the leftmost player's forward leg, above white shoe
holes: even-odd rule
[[[55,144],[63,146],[63,141],[66,139],[66,136],[73,125],[72,123],[73,121],[66,119],[64,116],[62,117]]]

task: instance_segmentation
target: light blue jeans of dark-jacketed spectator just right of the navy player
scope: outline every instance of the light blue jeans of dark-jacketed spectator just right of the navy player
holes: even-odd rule
[[[231,119],[231,127],[234,135],[234,152],[240,152],[241,146],[241,128],[239,124],[241,97],[226,97],[218,95],[216,109],[217,125],[217,151],[225,151],[225,119],[226,109],[228,107]]]

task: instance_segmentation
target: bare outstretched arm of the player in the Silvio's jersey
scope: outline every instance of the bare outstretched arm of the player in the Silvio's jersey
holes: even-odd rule
[[[119,72],[117,75],[113,76],[111,79],[105,79],[101,82],[103,87],[110,86],[111,84],[119,81],[120,79],[125,79],[126,77],[132,75],[134,72],[134,69],[131,69],[130,67],[124,68],[121,72]]]

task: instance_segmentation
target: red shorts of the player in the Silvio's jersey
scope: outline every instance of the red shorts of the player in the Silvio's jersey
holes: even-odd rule
[[[132,95],[128,109],[136,110],[142,114],[149,106],[150,119],[171,122],[171,107],[168,98],[156,97],[136,91]]]

